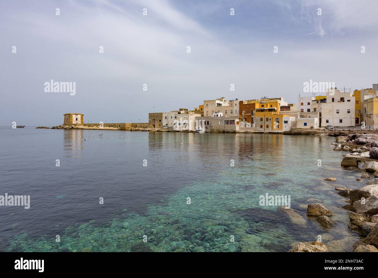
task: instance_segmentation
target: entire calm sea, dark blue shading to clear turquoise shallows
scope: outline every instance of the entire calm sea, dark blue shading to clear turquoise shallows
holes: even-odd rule
[[[0,207],[1,251],[269,252],[318,235],[352,251],[359,239],[335,186],[364,184],[332,137],[0,127],[0,138],[0,195],[31,199]],[[290,212],[260,206],[266,193],[290,195]],[[314,202],[336,228],[306,217]]]

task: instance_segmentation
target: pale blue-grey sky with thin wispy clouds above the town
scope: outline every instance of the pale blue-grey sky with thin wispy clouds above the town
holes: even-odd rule
[[[145,123],[220,97],[297,103],[310,80],[372,88],[377,10],[376,0],[2,0],[0,126],[56,126],[64,113]],[[75,94],[46,92],[51,79],[75,82]]]

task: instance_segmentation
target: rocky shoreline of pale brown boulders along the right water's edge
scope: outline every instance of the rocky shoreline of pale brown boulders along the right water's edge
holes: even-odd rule
[[[334,132],[328,134],[335,136],[335,151],[349,151],[345,154],[341,166],[362,173],[357,181],[368,180],[367,185],[351,189],[348,187],[335,187],[337,193],[349,198],[349,205],[343,206],[347,210],[350,230],[358,231],[365,238],[356,241],[353,252],[378,252],[378,135],[366,131]],[[362,166],[361,168],[359,166]],[[325,179],[336,181],[335,177]],[[307,206],[307,216],[316,217],[316,220],[325,228],[335,227],[330,218],[333,212],[321,203]],[[296,242],[289,252],[328,252],[328,247],[319,241]]]

